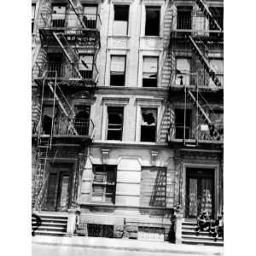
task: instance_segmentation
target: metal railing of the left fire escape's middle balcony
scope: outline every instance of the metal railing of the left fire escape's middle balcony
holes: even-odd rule
[[[79,79],[79,74],[76,72],[74,67],[79,69],[83,79],[90,79],[96,82],[98,77],[98,69],[95,63],[85,63],[87,67],[82,63],[73,63],[68,62],[37,62],[38,67],[38,78],[44,77],[47,79],[54,79],[55,72],[57,72],[57,79]]]

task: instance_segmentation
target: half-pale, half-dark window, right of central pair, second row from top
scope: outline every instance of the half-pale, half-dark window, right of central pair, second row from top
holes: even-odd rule
[[[143,87],[157,87],[158,57],[143,57]]]

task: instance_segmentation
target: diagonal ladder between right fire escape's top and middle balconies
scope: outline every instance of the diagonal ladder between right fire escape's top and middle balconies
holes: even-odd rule
[[[203,55],[203,53],[201,52],[201,49],[195,43],[195,40],[190,35],[187,35],[187,37],[189,38],[189,42],[192,45],[192,50],[194,50],[195,55],[198,56],[199,60],[204,65],[205,69],[207,70],[207,73],[209,73],[209,76],[212,79],[212,81],[214,82],[214,84],[216,84],[217,86],[221,86],[222,84],[220,83],[220,81],[216,75],[216,71],[212,67],[211,63],[207,60],[205,55]]]

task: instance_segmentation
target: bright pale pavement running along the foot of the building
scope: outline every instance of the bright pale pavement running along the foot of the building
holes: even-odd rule
[[[87,254],[84,252],[87,251]],[[33,256],[51,255],[223,255],[223,247],[176,245],[167,241],[137,241],[102,237],[32,237]],[[50,253],[52,252],[52,253]],[[60,254],[58,254],[58,252]],[[45,253],[45,254],[44,254]],[[97,254],[100,253],[100,254]],[[171,254],[170,254],[171,253]]]

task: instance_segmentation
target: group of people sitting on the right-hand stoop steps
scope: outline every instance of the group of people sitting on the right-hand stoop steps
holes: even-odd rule
[[[197,218],[195,232],[198,235],[201,231],[208,231],[209,236],[217,241],[218,237],[224,237],[224,216],[223,212],[218,214],[217,219],[211,219],[208,212],[202,212]]]

